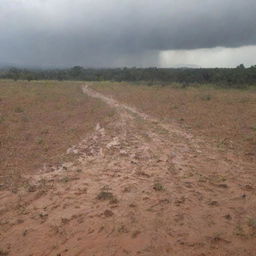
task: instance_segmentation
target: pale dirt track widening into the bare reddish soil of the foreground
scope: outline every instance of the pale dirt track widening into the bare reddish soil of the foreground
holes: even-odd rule
[[[68,149],[76,162],[0,191],[0,255],[255,255],[254,166],[83,92],[116,120]]]

